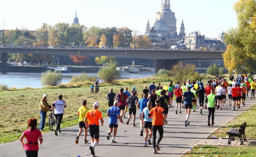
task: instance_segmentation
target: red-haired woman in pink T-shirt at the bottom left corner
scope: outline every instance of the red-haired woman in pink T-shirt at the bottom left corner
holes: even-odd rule
[[[38,145],[41,145],[43,143],[41,131],[36,129],[37,119],[30,118],[27,121],[27,127],[30,128],[22,133],[21,137],[19,138],[19,141],[21,142],[23,149],[25,149],[27,157],[37,157],[39,150]],[[26,138],[25,143],[23,141],[24,138]]]

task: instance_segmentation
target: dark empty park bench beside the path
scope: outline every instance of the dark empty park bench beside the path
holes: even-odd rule
[[[240,125],[239,129],[230,129],[227,134],[229,134],[229,141],[228,144],[231,144],[231,140],[234,141],[235,137],[239,137],[241,144],[243,145],[243,141],[247,141],[245,137],[245,128],[246,128],[246,122],[244,122],[242,125]]]

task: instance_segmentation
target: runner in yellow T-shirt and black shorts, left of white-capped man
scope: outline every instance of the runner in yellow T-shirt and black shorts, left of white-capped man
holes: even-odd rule
[[[83,100],[82,101],[82,107],[80,107],[78,109],[78,111],[76,112],[76,115],[79,116],[79,122],[78,122],[78,127],[79,127],[79,132],[77,134],[77,137],[76,137],[76,140],[75,140],[75,143],[78,144],[78,140],[79,140],[79,137],[80,135],[82,134],[83,132],[83,128],[84,128],[84,141],[83,141],[83,144],[86,144],[88,143],[89,141],[86,139],[87,138],[87,127],[86,125],[88,124],[88,121],[86,121],[86,123],[84,123],[84,117],[87,113],[87,111],[89,111],[89,109],[86,107],[87,105],[87,101],[86,100]]]

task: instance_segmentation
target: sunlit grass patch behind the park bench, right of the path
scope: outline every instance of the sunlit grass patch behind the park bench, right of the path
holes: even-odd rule
[[[256,113],[256,105],[251,106],[246,111],[242,112],[239,116],[231,119],[225,126],[219,128],[210,137],[214,135],[219,138],[225,138],[228,136],[226,134],[231,128],[239,128],[243,122],[246,122],[245,135],[247,139],[256,139],[256,118],[254,117],[254,113]]]

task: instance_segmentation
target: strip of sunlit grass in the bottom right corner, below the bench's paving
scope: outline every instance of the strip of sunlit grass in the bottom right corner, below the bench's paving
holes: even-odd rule
[[[231,147],[230,146],[208,146],[197,145],[192,151],[188,151],[184,157],[221,157],[221,156],[255,156],[256,147]]]

